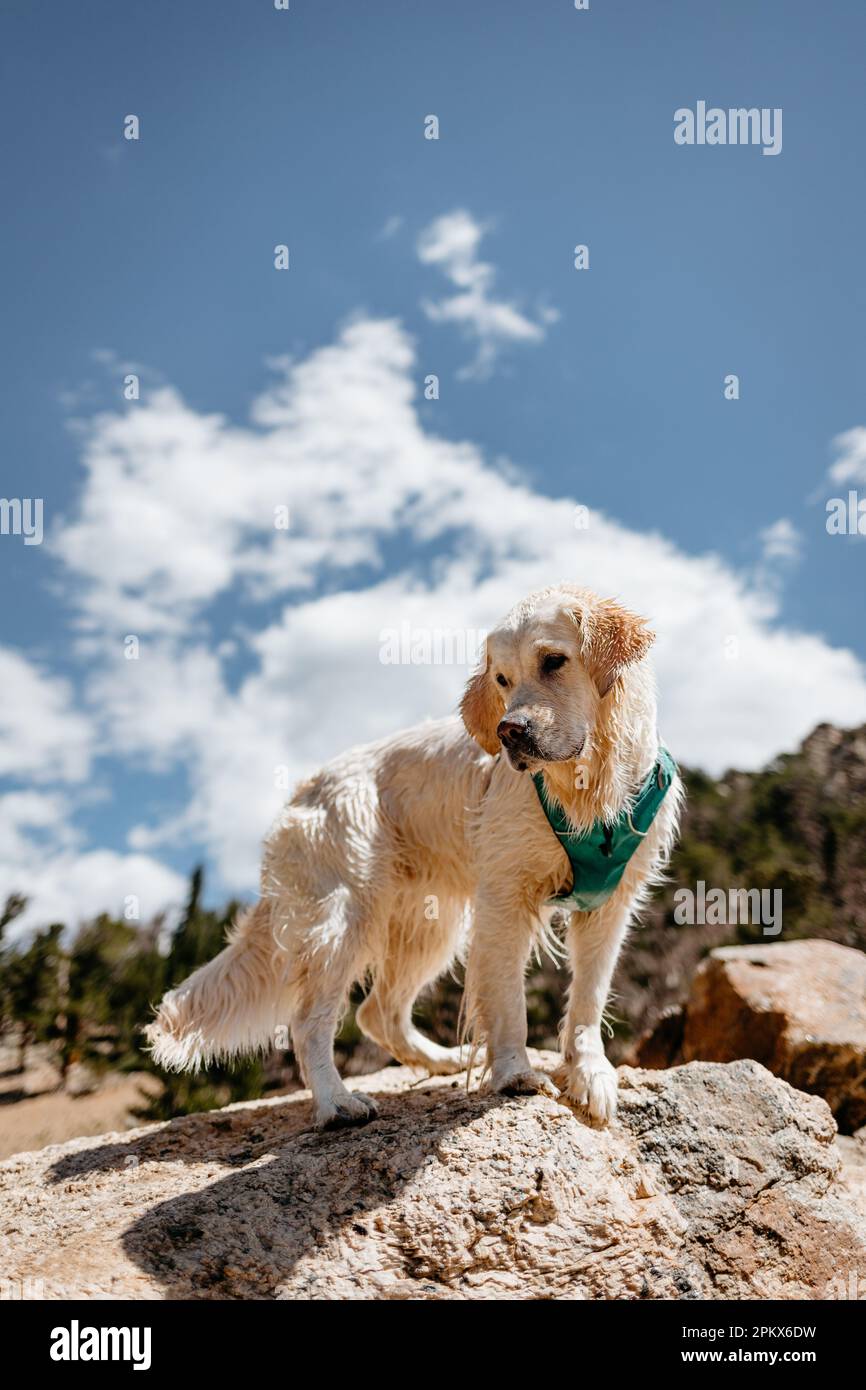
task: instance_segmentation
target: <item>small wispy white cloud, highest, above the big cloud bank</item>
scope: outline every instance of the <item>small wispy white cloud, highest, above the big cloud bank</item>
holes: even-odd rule
[[[478,342],[475,359],[463,367],[460,377],[489,375],[505,343],[539,343],[546,325],[559,318],[556,310],[545,309],[535,321],[513,303],[493,296],[496,271],[478,260],[485,231],[470,213],[457,210],[424,228],[417,243],[418,260],[435,265],[457,288],[456,295],[425,300],[425,314],[434,322],[457,324]]]

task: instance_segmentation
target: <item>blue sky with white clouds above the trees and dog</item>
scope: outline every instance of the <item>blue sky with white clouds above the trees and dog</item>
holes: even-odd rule
[[[862,4],[90,0],[1,26],[0,492],[44,499],[46,541],[0,537],[0,891],[152,909],[197,858],[253,890],[274,756],[453,706],[464,671],[379,689],[359,632],[489,624],[527,578],[652,610],[692,762],[866,719],[866,552],[824,527],[842,474],[866,488]],[[781,107],[781,154],[674,145],[698,100]],[[491,306],[513,331],[484,338]],[[564,535],[545,499],[603,520]]]

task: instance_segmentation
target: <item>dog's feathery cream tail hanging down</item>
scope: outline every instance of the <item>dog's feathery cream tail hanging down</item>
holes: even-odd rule
[[[272,1047],[277,1029],[289,1023],[286,969],[263,899],[238,919],[218,956],[164,997],[145,1029],[154,1062],[195,1072]]]

